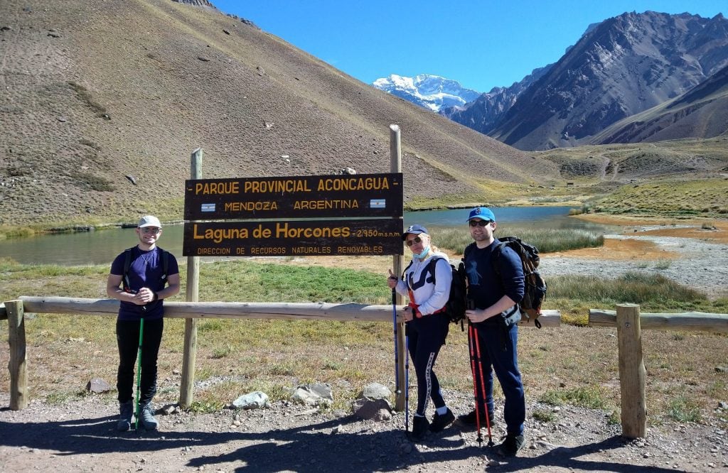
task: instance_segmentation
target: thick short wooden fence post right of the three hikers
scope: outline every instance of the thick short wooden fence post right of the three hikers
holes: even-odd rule
[[[617,305],[617,340],[622,396],[622,436],[630,439],[644,438],[647,432],[646,370],[642,357],[638,305]]]

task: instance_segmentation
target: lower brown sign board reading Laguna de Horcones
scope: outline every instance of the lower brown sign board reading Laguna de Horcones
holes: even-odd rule
[[[402,220],[186,222],[184,256],[401,255]]]

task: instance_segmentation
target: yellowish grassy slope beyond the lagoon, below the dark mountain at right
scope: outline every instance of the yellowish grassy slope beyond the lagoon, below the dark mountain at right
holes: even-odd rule
[[[542,151],[589,195],[588,212],[673,218],[725,218],[728,148],[724,137]]]

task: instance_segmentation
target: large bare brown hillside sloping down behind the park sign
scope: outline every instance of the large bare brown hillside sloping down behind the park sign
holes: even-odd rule
[[[180,219],[198,147],[205,178],[388,172],[392,123],[402,130],[405,201],[486,200],[493,180],[558,179],[550,162],[209,8],[171,0],[1,8],[0,223]]]

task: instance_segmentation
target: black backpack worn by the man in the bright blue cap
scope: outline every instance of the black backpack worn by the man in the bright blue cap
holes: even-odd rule
[[[526,287],[523,290],[523,300],[518,303],[518,307],[524,317],[529,320],[533,319],[534,325],[541,328],[539,316],[541,315],[541,304],[546,298],[546,282],[537,270],[540,261],[539,250],[534,245],[521,242],[521,239],[517,237],[502,237],[499,238],[499,241],[493,259],[493,269],[496,274],[500,275],[498,258],[503,247],[510,247],[521,258]]]

